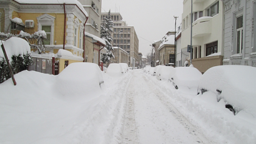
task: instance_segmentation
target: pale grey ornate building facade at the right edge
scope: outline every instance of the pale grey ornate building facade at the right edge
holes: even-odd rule
[[[224,65],[256,67],[256,1],[224,0]]]

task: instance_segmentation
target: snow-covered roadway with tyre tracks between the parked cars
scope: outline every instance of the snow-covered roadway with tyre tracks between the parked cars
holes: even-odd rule
[[[122,143],[211,143],[165,101],[167,95],[146,75],[140,70],[131,73]]]

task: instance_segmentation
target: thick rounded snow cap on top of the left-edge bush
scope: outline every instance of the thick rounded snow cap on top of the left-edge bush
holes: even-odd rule
[[[27,53],[31,54],[31,49],[27,41],[19,37],[11,37],[10,39],[7,39],[4,42],[4,48],[10,61],[12,60],[12,55],[21,55],[21,57],[23,57],[23,55],[26,55]],[[0,57],[4,57],[2,48],[0,50]]]

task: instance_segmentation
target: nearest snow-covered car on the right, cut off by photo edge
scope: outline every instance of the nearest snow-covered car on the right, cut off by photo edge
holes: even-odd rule
[[[256,117],[256,68],[245,65],[220,65],[207,70],[199,82],[198,94],[209,92],[224,100],[236,115],[240,111]]]

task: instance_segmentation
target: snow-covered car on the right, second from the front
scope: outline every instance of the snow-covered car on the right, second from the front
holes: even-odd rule
[[[194,89],[196,92],[201,77],[202,73],[195,67],[175,67],[169,75],[169,80],[175,89],[183,87],[185,89]]]

